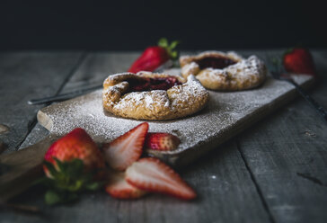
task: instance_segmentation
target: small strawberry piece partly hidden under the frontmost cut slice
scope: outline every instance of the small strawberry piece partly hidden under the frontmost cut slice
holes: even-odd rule
[[[137,199],[146,194],[145,191],[127,183],[124,172],[110,172],[109,183],[105,185],[105,191],[118,199]]]

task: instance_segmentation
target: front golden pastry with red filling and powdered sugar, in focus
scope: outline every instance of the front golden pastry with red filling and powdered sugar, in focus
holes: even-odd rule
[[[194,76],[151,72],[122,73],[103,83],[103,108],[137,120],[172,120],[199,112],[208,103],[208,91]]]

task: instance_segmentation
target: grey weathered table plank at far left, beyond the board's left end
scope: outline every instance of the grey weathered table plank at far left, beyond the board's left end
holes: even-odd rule
[[[6,151],[19,147],[36,123],[41,106],[27,101],[56,94],[80,57],[79,52],[0,54],[0,124],[9,127],[0,141],[7,145]]]

